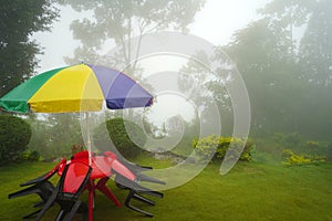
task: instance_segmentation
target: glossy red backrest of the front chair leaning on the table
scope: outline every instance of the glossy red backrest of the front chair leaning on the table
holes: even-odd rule
[[[82,161],[69,162],[60,178],[60,193],[66,196],[79,197],[86,185],[92,168]]]

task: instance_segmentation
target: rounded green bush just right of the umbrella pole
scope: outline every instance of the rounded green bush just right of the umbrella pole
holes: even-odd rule
[[[105,125],[106,124],[106,125]],[[106,129],[107,128],[107,131]],[[108,134],[107,134],[108,133]],[[146,136],[142,128],[133,122],[123,118],[108,119],[101,124],[93,135],[93,140],[98,150],[110,150],[110,138],[125,158],[134,158],[141,154],[141,147],[146,141]]]

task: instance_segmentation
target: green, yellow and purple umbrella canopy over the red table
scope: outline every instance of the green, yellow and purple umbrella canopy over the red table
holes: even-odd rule
[[[96,112],[145,107],[153,96],[127,75],[104,66],[79,64],[39,74],[0,98],[0,108],[17,113]]]

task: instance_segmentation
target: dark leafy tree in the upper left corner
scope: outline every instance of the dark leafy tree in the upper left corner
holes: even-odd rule
[[[33,74],[41,48],[31,34],[49,31],[58,10],[53,0],[3,0],[0,12],[1,97]]]

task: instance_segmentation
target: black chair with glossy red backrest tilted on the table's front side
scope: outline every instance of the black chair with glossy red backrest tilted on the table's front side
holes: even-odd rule
[[[60,206],[58,220],[70,221],[76,212],[83,213],[83,220],[87,219],[87,206],[79,197],[84,190],[92,168],[84,162],[73,161],[68,164],[61,178],[52,191],[51,197],[39,212],[37,221],[41,220],[44,213],[56,202]]]

